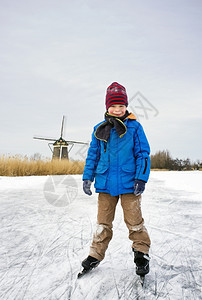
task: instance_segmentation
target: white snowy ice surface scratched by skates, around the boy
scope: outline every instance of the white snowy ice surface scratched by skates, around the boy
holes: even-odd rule
[[[0,177],[0,299],[202,299],[202,172],[151,172],[142,210],[152,246],[142,289],[120,204],[99,267],[77,279],[96,223],[80,175]]]

